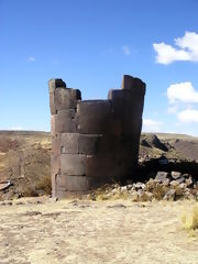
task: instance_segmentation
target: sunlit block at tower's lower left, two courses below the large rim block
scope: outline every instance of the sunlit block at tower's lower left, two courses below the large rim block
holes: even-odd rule
[[[62,154],[61,172],[62,175],[85,176],[86,155]]]

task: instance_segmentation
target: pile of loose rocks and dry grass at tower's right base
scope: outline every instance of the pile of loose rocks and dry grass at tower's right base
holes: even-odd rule
[[[107,185],[88,195],[92,200],[128,198],[132,201],[152,200],[198,200],[198,182],[189,174],[179,172],[157,172],[154,178],[145,183],[127,182],[127,185]]]

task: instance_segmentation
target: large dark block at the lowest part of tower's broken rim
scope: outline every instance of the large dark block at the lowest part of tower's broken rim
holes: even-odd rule
[[[102,134],[109,130],[111,102],[108,100],[81,101],[77,105],[78,132]]]

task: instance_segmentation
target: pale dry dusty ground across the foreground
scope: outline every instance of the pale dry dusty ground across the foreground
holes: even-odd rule
[[[182,229],[195,201],[26,198],[0,204],[2,263],[198,263],[198,238]]]

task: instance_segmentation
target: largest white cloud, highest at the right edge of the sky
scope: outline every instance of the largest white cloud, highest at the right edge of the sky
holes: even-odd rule
[[[170,64],[176,61],[198,62],[198,34],[186,32],[183,37],[174,40],[175,46],[162,43],[154,43],[156,63]]]

